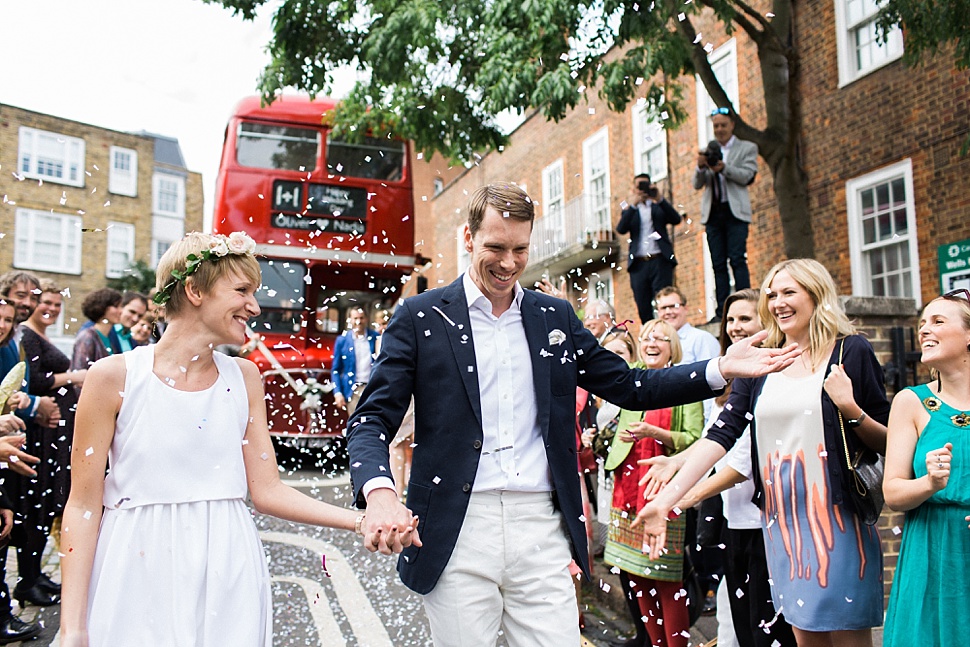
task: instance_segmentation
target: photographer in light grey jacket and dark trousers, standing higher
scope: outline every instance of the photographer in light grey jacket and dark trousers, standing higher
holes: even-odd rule
[[[707,231],[711,250],[717,310],[712,322],[721,320],[724,300],[731,293],[731,262],[734,290],[751,287],[748,275],[748,224],[751,200],[748,186],[758,172],[758,146],[734,136],[734,115],[730,108],[711,112],[714,140],[697,155],[694,188],[704,189],[701,224]]]

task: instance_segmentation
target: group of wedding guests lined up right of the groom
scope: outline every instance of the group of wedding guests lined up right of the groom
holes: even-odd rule
[[[584,304],[584,324],[631,366],[677,364],[700,347],[685,333],[707,333],[678,327],[686,300],[676,288],[659,290],[655,304],[660,318],[638,336],[603,301]],[[935,379],[900,392],[892,407],[875,353],[820,263],[779,263],[760,291],[731,294],[721,312],[719,353],[758,335],[767,347],[797,344],[799,360],[734,380],[703,411],[599,401],[597,424],[581,436],[599,457],[593,480],[608,491],[598,497],[598,554],[619,575],[635,628],[614,644],[686,647],[688,597],[698,590],[688,584],[704,561],[689,513],[717,495],[723,527],[707,552],[719,557],[718,645],[871,646],[884,620],[884,645],[955,644],[967,628],[965,578],[951,566],[970,549],[970,294],[926,305],[918,332]],[[850,493],[864,452],[885,456],[886,504],[907,511],[885,614],[880,535]],[[702,512],[699,523],[710,521]]]

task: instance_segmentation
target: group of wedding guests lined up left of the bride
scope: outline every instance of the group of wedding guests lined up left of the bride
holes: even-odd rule
[[[60,520],[70,493],[71,444],[78,396],[97,360],[157,341],[161,318],[149,297],[102,288],[82,304],[87,321],[67,357],[48,336],[63,307],[66,286],[21,271],[0,276],[0,433],[4,515],[0,575],[7,542],[16,547],[19,581],[12,598],[21,607],[60,602],[61,586],[41,568],[49,537],[60,539]],[[163,325],[163,324],[162,324]],[[9,390],[9,392],[8,392]],[[9,518],[8,518],[9,517]],[[0,585],[0,644],[36,636],[39,623],[13,613],[11,592]]]

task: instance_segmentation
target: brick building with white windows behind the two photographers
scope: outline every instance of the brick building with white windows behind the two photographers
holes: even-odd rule
[[[898,31],[885,44],[875,39],[874,7],[858,0],[796,3],[795,90],[816,258],[849,297],[847,312],[885,364],[890,327],[912,327],[918,308],[941,287],[970,286],[970,157],[959,153],[970,133],[970,72],[956,69],[951,50],[904,66]],[[753,43],[741,30],[728,36],[712,19],[698,32],[713,45],[712,66],[736,110],[764,127]],[[680,261],[675,282],[687,295],[692,323],[710,319],[714,280],[699,225],[702,194],[691,179],[697,151],[713,138],[713,102],[699,81],[681,82],[684,105],[696,108],[676,130],[651,122],[640,105],[612,113],[593,89],[559,123],[538,113],[527,117],[503,151],[483,156],[434,199],[441,258],[429,271],[432,286],[449,283],[467,264],[456,233],[468,194],[482,184],[513,181],[539,202],[523,285],[546,273],[567,275],[574,300],[581,302],[589,289],[615,305],[618,319],[635,319],[623,262],[627,241],[613,227],[633,176],[646,171],[687,215],[672,232]],[[784,258],[771,173],[761,159],[750,195],[748,256],[758,286]],[[941,279],[947,263],[952,271]],[[880,523],[887,593],[901,526],[900,514],[887,513]]]

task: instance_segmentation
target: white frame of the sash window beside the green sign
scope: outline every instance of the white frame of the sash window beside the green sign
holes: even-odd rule
[[[903,179],[906,191],[906,235],[905,241],[896,237],[890,241],[880,241],[866,246],[862,229],[862,205],[860,193],[874,186]],[[872,279],[869,276],[869,266],[866,262],[866,252],[888,245],[905,243],[909,248],[909,276],[913,298],[916,305],[921,305],[920,295],[920,264],[919,245],[916,240],[916,201],[913,196],[913,162],[904,159],[901,162],[886,166],[877,171],[852,178],[845,183],[846,216],[849,225],[849,259],[852,269],[852,293],[860,296],[872,296]]]

